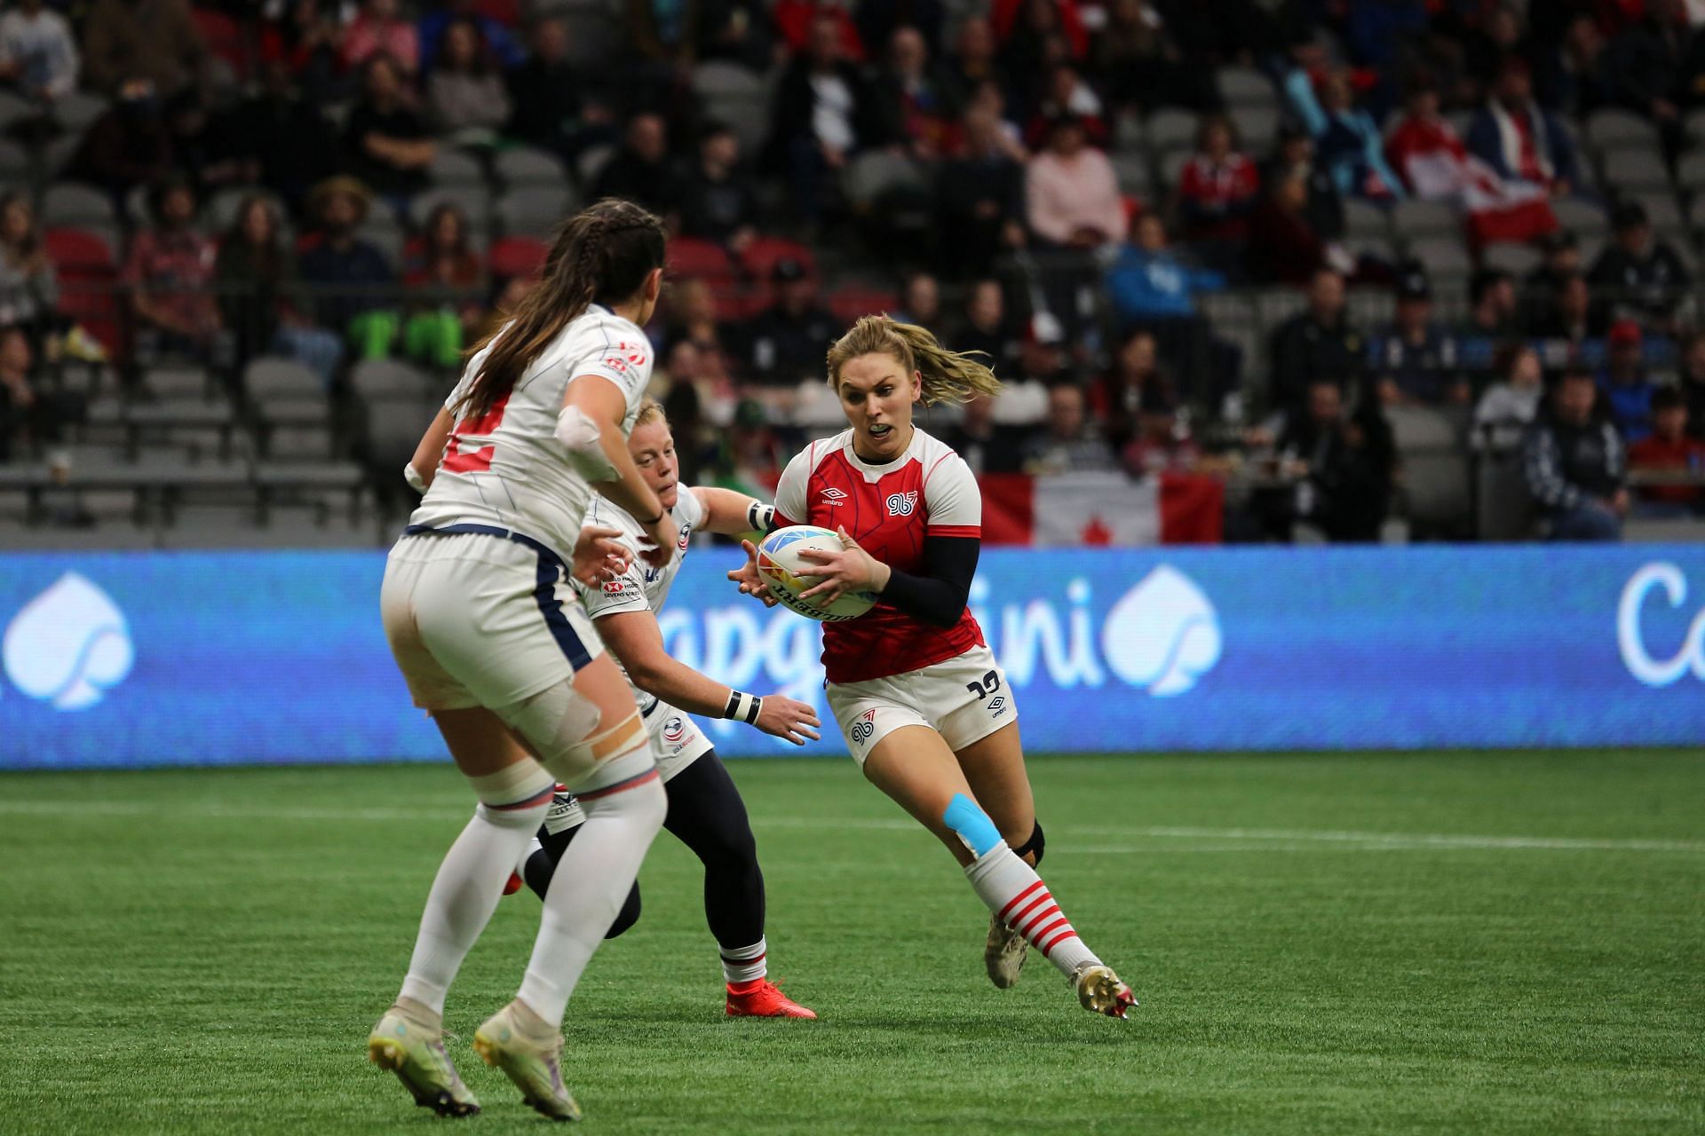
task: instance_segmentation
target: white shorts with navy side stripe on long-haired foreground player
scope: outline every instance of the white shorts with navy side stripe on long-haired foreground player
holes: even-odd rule
[[[527,538],[402,536],[385,560],[379,606],[414,705],[426,710],[508,707],[573,681],[604,652],[563,560]]]

